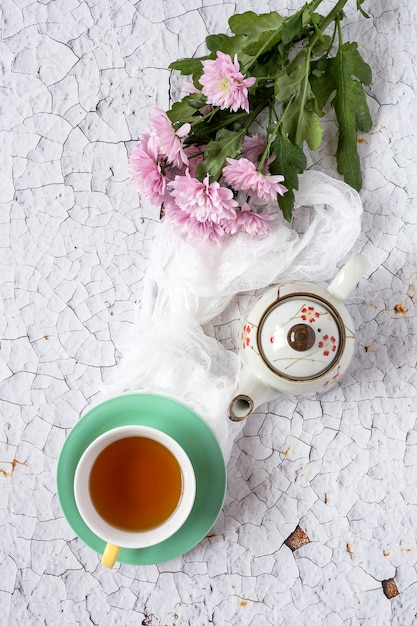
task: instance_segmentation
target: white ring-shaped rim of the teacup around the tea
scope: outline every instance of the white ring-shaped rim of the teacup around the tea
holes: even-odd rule
[[[148,437],[164,445],[175,456],[182,474],[182,492],[176,509],[159,526],[146,531],[129,531],[112,526],[94,508],[88,489],[88,478],[98,454],[108,445],[129,436]],[[132,424],[112,428],[94,439],[84,450],[74,474],[74,497],[78,511],[85,524],[100,539],[121,548],[145,548],[156,545],[181,528],[194,505],[196,478],[192,463],[183,447],[164,431],[151,426]]]

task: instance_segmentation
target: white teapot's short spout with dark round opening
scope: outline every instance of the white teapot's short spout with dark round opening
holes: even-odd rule
[[[276,389],[265,385],[257,376],[250,376],[245,367],[236,395],[230,401],[227,414],[232,422],[241,422],[261,404],[278,396]]]

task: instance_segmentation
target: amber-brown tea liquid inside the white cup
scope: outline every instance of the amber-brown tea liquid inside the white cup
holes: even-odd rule
[[[89,488],[94,507],[108,524],[150,530],[175,511],[182,492],[181,468],[159,442],[126,437],[100,452]]]

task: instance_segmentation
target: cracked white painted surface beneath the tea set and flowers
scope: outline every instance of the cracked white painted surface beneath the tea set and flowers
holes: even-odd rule
[[[330,4],[330,3],[327,3]],[[192,55],[235,11],[295,0],[8,0],[0,91],[0,611],[8,625],[406,626],[417,619],[417,8],[348,3],[373,68],[359,146],[370,259],[348,306],[355,358],[319,399],[250,417],[210,535],[112,571],[62,516],[65,437],[111,381],[141,299],[157,211],[128,153]],[[325,8],[325,7],[324,7]],[[323,10],[324,10],[323,8]],[[328,123],[317,168],[335,175]],[[230,347],[233,322],[214,328]],[[284,544],[299,525],[310,542]],[[394,579],[392,599],[382,581]],[[6,622],[4,622],[6,619]]]

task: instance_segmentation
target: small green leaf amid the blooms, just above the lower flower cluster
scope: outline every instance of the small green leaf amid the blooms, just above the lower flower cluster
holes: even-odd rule
[[[204,160],[197,167],[197,178],[204,180],[207,174],[217,180],[222,173],[227,157],[236,157],[242,147],[245,131],[234,132],[222,129],[214,141],[210,141],[204,153]]]

